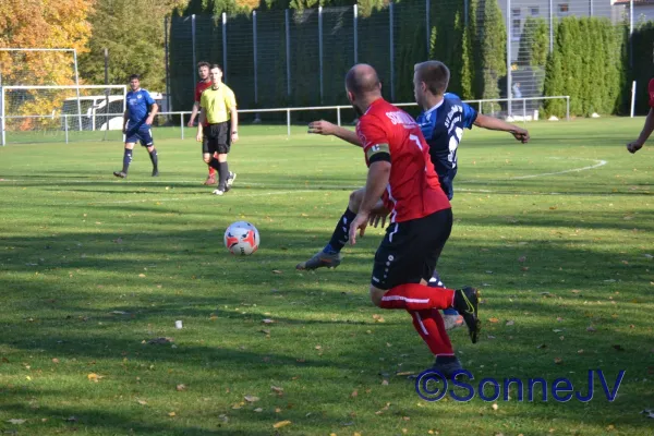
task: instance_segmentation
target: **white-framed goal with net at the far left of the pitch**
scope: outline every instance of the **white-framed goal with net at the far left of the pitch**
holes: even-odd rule
[[[0,87],[7,143],[120,140],[125,85]]]

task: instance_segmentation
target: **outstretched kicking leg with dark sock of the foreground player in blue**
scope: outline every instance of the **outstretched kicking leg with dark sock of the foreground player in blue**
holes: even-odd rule
[[[350,193],[350,202],[348,203],[348,208],[343,213],[343,215],[338,220],[334,232],[331,233],[331,239],[329,243],[325,245],[325,247],[316,253],[312,258],[306,262],[302,262],[295,266],[298,269],[316,269],[320,267],[327,268],[336,268],[340,265],[342,256],[340,251],[346,246],[349,240],[350,234],[350,223],[356,217],[359,213],[359,206],[361,205],[361,201],[365,195],[365,190],[362,187],[358,191]],[[382,202],[377,205],[378,207],[384,207]]]

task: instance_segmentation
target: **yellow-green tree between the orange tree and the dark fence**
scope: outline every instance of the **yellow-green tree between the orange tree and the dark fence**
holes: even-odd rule
[[[89,16],[89,51],[80,58],[88,83],[105,83],[105,48],[109,50],[109,83],[124,84],[142,75],[142,86],[166,89],[164,17],[181,10],[186,0],[97,0]]]

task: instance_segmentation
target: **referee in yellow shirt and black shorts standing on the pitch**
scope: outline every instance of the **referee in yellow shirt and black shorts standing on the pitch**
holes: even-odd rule
[[[197,123],[197,142],[202,142],[204,161],[218,171],[218,189],[216,195],[230,190],[237,179],[229,171],[227,154],[231,144],[239,141],[239,114],[233,90],[222,83],[222,70],[217,64],[209,69],[211,86],[202,93],[199,98],[199,122]],[[207,125],[205,125],[205,120]],[[218,154],[218,158],[214,154]]]

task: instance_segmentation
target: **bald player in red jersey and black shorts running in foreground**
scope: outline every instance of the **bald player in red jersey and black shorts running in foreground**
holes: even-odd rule
[[[356,134],[368,167],[365,194],[350,226],[356,230],[390,213],[390,225],[373,266],[371,299],[382,308],[400,308],[436,356],[434,368],[450,377],[461,363],[455,355],[438,310],[455,307],[476,342],[479,291],[429,288],[427,281],[452,228],[450,203],[440,187],[420,126],[382,97],[375,70],[354,65],[346,76],[348,98],[359,114]],[[363,233],[362,233],[363,234]]]

